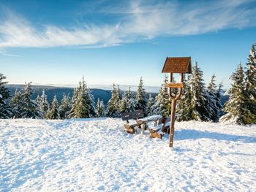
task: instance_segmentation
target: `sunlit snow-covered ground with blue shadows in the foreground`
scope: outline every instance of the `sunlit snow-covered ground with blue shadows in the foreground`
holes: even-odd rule
[[[123,125],[0,120],[0,191],[256,191],[256,126],[176,123],[170,149]]]

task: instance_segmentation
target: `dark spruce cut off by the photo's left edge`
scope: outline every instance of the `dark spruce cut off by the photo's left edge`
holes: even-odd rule
[[[8,99],[10,99],[10,92],[5,88],[4,82],[6,77],[0,73],[0,119],[12,117],[12,109],[10,107]]]

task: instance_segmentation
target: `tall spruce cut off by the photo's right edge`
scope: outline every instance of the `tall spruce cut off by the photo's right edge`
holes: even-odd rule
[[[256,53],[252,45],[245,72],[246,108],[245,123],[256,123]]]

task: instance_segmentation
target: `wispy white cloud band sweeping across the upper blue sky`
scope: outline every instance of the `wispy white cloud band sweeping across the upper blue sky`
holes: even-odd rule
[[[0,23],[0,47],[108,47],[155,37],[203,34],[226,28],[255,26],[254,1],[131,1],[108,14],[122,15],[116,24],[93,23],[72,29],[48,26],[42,30],[29,20],[9,15]]]

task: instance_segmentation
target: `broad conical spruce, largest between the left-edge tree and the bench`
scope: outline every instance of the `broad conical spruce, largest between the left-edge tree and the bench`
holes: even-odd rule
[[[93,118],[95,116],[94,96],[83,79],[82,82],[79,82],[79,87],[74,90],[70,117]]]

